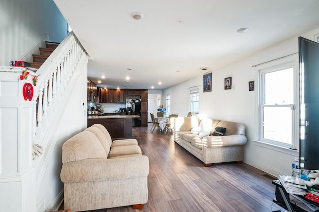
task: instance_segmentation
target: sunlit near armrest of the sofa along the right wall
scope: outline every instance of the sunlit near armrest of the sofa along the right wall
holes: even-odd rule
[[[203,145],[207,148],[219,146],[239,146],[247,143],[247,138],[244,135],[230,136],[207,136],[202,139]]]

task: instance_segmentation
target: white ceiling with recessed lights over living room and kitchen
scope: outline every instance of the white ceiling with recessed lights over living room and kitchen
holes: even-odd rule
[[[108,88],[164,89],[319,27],[319,0],[54,2],[93,58],[88,77]]]

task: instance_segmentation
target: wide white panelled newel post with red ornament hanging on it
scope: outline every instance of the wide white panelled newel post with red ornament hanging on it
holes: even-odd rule
[[[24,100],[23,86],[33,86],[34,72],[19,77],[24,68],[0,67],[0,211],[35,212],[36,175],[32,168],[33,104]]]

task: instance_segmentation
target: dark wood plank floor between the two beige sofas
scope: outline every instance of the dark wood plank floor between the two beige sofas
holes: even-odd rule
[[[172,133],[133,128],[142,153],[150,160],[149,201],[143,210],[130,206],[91,212],[271,212],[273,176],[245,163],[203,163],[178,144]],[[155,131],[154,131],[155,132]],[[63,205],[60,210],[63,209]]]

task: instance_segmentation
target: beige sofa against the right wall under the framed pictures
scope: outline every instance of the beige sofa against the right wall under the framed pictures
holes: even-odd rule
[[[192,133],[198,128],[201,120],[192,117],[178,117],[174,123],[174,141],[200,159],[205,166],[212,163],[237,161],[241,163],[244,157],[245,126],[236,122],[209,120],[211,123],[208,136],[199,137]],[[212,136],[216,127],[226,128],[223,136]]]

